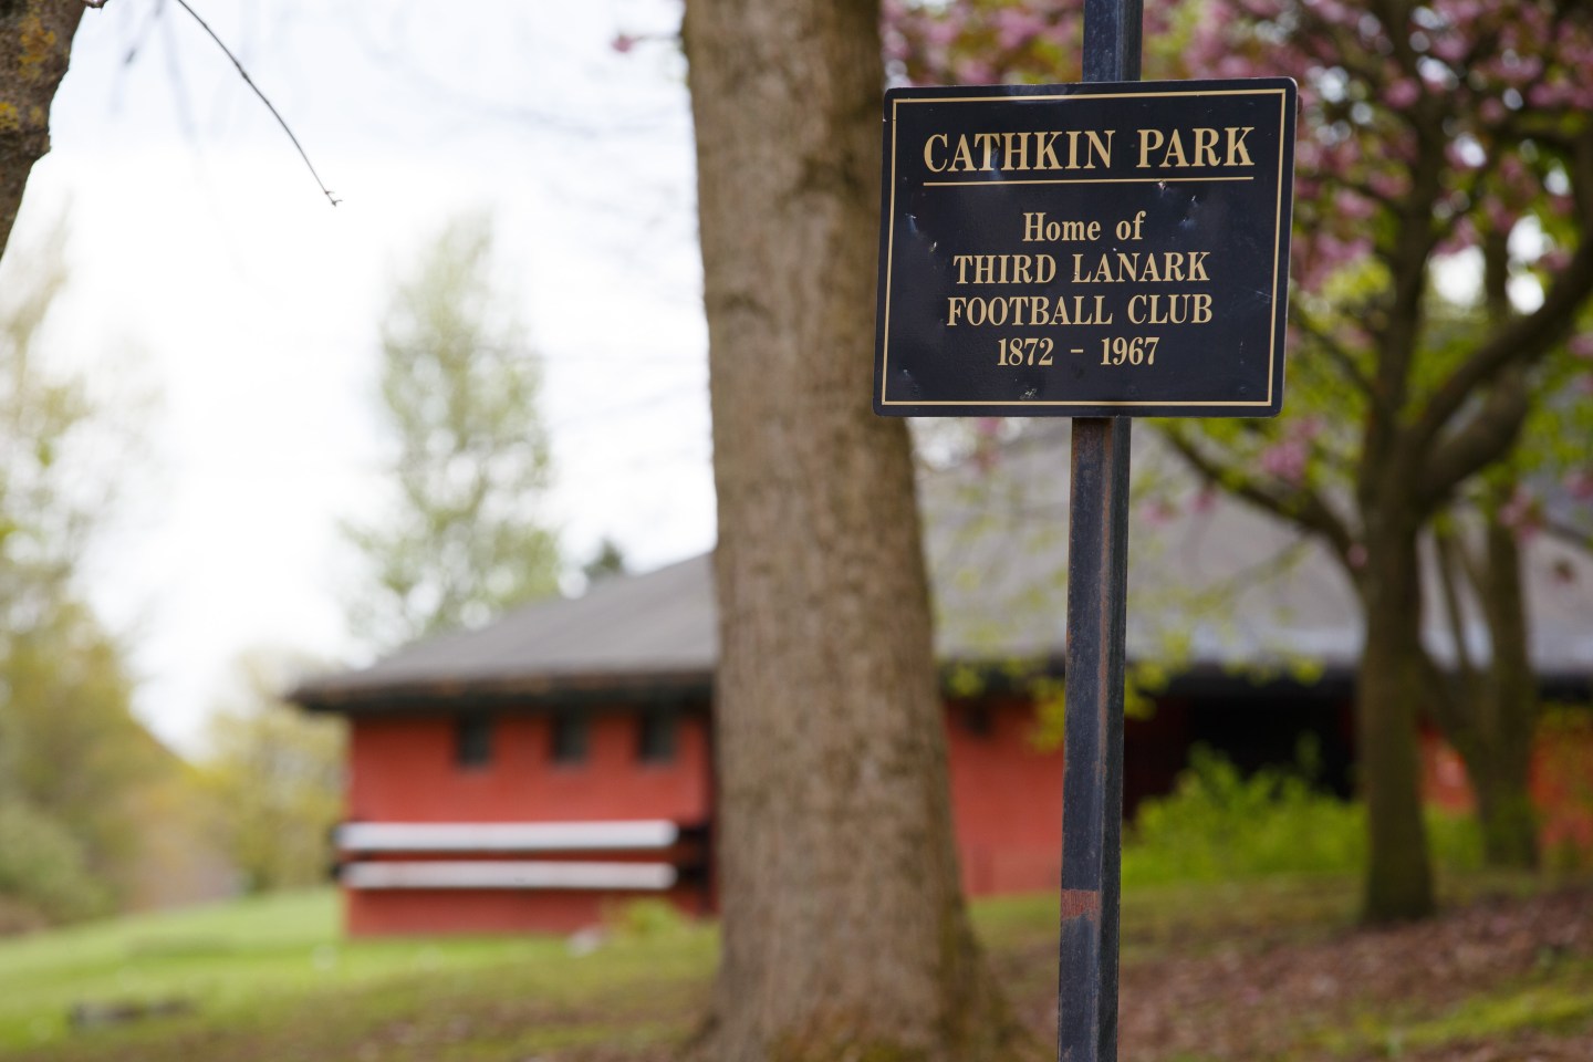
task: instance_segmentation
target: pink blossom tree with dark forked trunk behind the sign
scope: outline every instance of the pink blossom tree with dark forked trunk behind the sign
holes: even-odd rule
[[[897,0],[887,61],[906,81],[1077,80],[1080,11],[1078,0]],[[1164,433],[1211,484],[1322,541],[1354,588],[1367,635],[1365,914],[1419,917],[1434,904],[1419,712],[1466,758],[1489,845],[1531,837],[1525,524],[1507,517],[1523,484],[1544,479],[1528,474],[1544,455],[1532,420],[1588,404],[1593,366],[1577,352],[1593,349],[1593,11],[1195,0],[1147,11],[1145,37],[1147,76],[1300,84],[1289,412]],[[1585,444],[1555,462],[1575,497]],[[1478,514],[1480,530],[1454,532],[1456,513]],[[1442,675],[1423,643],[1419,559],[1434,529],[1448,532],[1450,573],[1472,546],[1494,642],[1489,696]]]

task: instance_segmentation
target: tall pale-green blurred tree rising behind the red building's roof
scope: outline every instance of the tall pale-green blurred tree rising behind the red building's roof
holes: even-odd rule
[[[546,522],[542,374],[494,287],[486,217],[436,237],[395,285],[381,334],[397,498],[347,532],[373,575],[350,619],[390,648],[553,594],[559,549]]]

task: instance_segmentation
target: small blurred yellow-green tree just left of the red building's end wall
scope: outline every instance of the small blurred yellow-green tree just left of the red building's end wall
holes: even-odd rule
[[[223,849],[250,892],[317,885],[342,812],[344,728],[282,701],[309,661],[269,651],[237,661],[239,691],[210,718],[202,785]]]

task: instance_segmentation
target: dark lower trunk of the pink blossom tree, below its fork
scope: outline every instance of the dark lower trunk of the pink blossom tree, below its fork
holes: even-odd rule
[[[1424,699],[1421,583],[1415,529],[1380,511],[1367,529],[1360,597],[1367,645],[1356,686],[1356,755],[1367,804],[1364,917],[1397,922],[1434,911],[1421,815],[1416,718]]]

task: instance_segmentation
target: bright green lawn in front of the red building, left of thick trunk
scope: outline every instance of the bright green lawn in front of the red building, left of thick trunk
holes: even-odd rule
[[[561,938],[346,941],[338,922],[336,893],[322,890],[0,943],[0,1057],[188,1057],[159,1044],[198,1049],[228,1032],[272,1040],[290,1029],[301,1043],[279,1046],[336,1057],[315,1051],[408,1014],[467,1013],[497,997],[575,1014],[607,992],[655,979],[666,989],[712,963],[710,931],[696,927],[620,935],[578,955]],[[86,1030],[68,1022],[80,1005],[162,1003],[183,1013]]]

